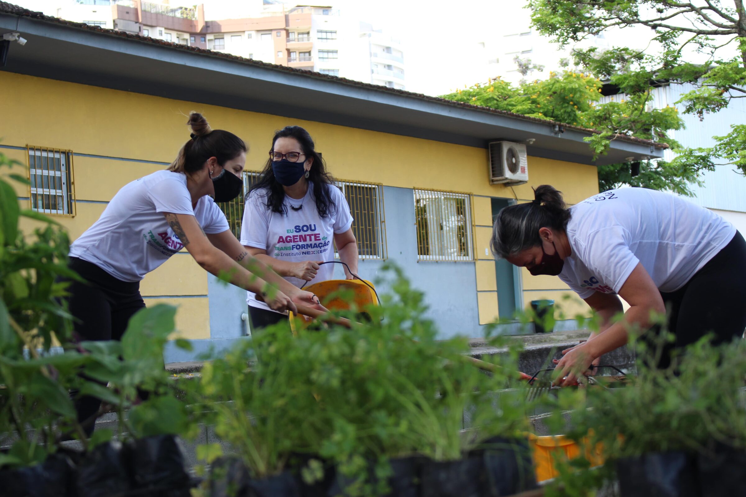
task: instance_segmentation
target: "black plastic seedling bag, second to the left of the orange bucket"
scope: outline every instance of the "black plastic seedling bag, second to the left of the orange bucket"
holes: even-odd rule
[[[483,497],[488,487],[482,458],[427,460],[422,465],[422,494],[427,497]]]

